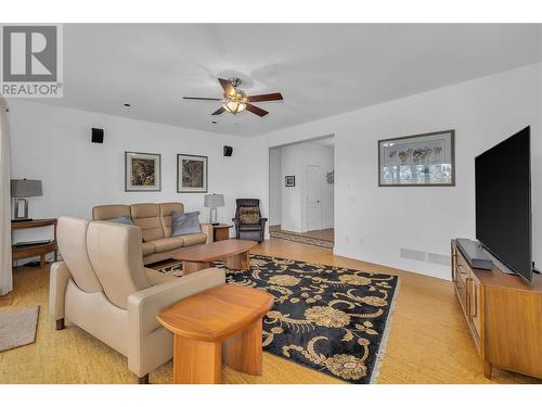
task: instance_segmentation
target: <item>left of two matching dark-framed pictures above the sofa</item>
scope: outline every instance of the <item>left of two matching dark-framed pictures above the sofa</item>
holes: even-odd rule
[[[159,191],[162,189],[160,154],[125,152],[125,191]]]

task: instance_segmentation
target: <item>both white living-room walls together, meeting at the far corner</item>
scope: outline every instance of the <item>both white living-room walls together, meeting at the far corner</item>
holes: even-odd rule
[[[209,191],[260,198],[269,213],[269,148],[335,135],[335,253],[449,278],[448,266],[401,257],[401,249],[448,256],[450,239],[474,238],[474,157],[527,125],[532,130],[533,257],[542,262],[542,64],[361,109],[268,135],[241,139],[28,102],[10,102],[13,177],[43,180],[31,216],[90,216],[95,204],[181,201],[176,154],[209,156]],[[89,142],[90,127],[105,143]],[[454,128],[456,187],[378,188],[377,140]],[[233,145],[231,158],[221,147]],[[163,191],[124,192],[124,152],[163,154]],[[296,179],[297,180],[297,179]],[[202,212],[205,220],[207,213]]]

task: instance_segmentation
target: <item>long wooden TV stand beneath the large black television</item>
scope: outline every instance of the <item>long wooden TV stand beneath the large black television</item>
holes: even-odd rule
[[[491,378],[493,366],[542,379],[542,276],[472,268],[452,240],[452,281],[468,328]]]

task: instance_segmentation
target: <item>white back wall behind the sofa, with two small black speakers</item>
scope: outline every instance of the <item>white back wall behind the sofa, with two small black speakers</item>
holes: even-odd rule
[[[220,221],[231,224],[236,198],[259,198],[259,183],[267,185],[261,175],[246,170],[262,165],[253,160],[246,139],[26,101],[10,101],[9,107],[12,177],[43,185],[43,196],[29,199],[35,218],[88,218],[94,205],[173,201],[183,202],[185,211],[199,211],[199,219],[208,221],[203,193],[177,193],[178,153],[208,156],[209,193],[225,195],[225,207],[218,208]],[[105,130],[103,144],[90,142],[91,127]],[[224,144],[233,147],[233,156],[222,155]],[[125,151],[162,154],[160,192],[125,192]],[[18,233],[15,240],[47,233]]]

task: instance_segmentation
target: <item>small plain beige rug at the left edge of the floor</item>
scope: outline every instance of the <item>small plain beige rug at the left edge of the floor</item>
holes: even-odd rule
[[[38,314],[38,306],[0,313],[0,352],[34,343]]]

